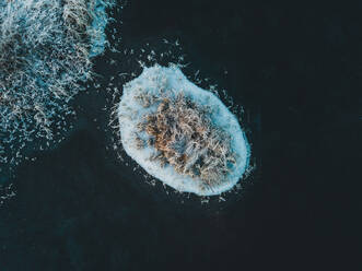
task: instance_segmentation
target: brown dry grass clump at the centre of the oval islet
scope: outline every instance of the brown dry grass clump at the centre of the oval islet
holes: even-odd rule
[[[157,150],[153,160],[170,164],[179,174],[201,179],[205,187],[222,182],[235,163],[230,136],[215,127],[210,108],[178,94],[175,98],[139,95],[144,107],[157,103],[157,110],[138,123],[140,131],[151,136],[147,144]],[[138,148],[142,145],[137,140]]]

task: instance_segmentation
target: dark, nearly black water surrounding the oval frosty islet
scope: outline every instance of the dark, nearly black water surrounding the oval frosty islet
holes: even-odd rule
[[[355,264],[361,13],[352,1],[128,1],[113,25],[122,52],[95,61],[102,87],[91,84],[73,101],[78,117],[62,143],[15,172],[16,197],[0,208],[0,270]],[[140,73],[141,48],[170,50],[161,63],[185,55],[187,75],[200,70],[244,107],[257,167],[242,192],[201,204],[145,184],[133,162],[117,158],[108,121],[120,94],[113,101],[105,87],[130,79],[118,73]]]

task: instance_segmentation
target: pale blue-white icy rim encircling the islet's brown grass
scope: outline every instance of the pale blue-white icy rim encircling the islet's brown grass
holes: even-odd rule
[[[159,161],[150,160],[156,153],[152,146],[138,149],[136,136],[147,140],[147,132],[140,132],[137,123],[141,122],[147,114],[155,113],[157,105],[148,108],[137,102],[136,96],[151,94],[155,96],[172,96],[183,92],[194,103],[211,106],[210,119],[213,125],[231,134],[231,149],[236,154],[236,163],[218,186],[201,186],[201,179],[182,175],[171,165],[161,166]],[[124,93],[118,106],[119,132],[126,153],[142,166],[150,175],[182,192],[192,192],[199,196],[220,195],[233,188],[243,177],[248,167],[250,148],[237,118],[211,92],[205,91],[190,82],[175,66],[168,68],[154,66],[144,68],[140,76],[124,85]]]

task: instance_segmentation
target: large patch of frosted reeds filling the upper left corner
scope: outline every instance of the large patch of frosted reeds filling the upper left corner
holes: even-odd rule
[[[113,0],[0,0],[0,163],[54,138],[106,46]],[[61,128],[60,128],[61,127]],[[0,167],[1,170],[1,167]]]

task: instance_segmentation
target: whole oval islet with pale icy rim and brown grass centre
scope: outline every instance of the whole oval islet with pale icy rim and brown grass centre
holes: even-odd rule
[[[117,107],[126,153],[182,192],[220,195],[248,167],[250,148],[236,117],[176,66],[144,68]]]

